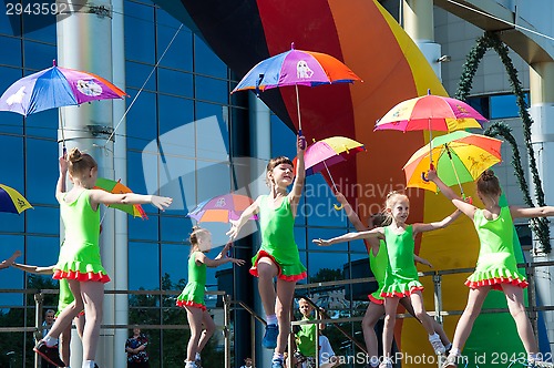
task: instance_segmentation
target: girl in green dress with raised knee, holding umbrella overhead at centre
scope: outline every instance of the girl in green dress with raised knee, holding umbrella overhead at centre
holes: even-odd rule
[[[259,213],[261,246],[252,258],[250,274],[259,278],[258,290],[266,313],[266,333],[261,345],[275,349],[271,368],[284,367],[284,354],[290,334],[290,306],[296,282],[306,277],[295,242],[294,226],[298,203],[304,188],[306,171],[304,151],[306,140],[297,137],[296,178],[293,162],[285,156],[271,159],[267,164],[268,195],[260,195],[240,218],[230,221],[227,235],[235,238],[240,227]],[[287,187],[293,185],[290,193]],[[274,278],[277,277],[277,290]]]

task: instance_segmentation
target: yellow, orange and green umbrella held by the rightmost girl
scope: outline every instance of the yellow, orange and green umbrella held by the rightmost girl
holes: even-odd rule
[[[458,184],[464,196],[462,183],[473,182],[483,171],[502,161],[502,141],[486,135],[456,131],[433,139],[433,155],[437,157],[437,174],[451,186]],[[409,187],[437,191],[434,183],[419,174],[430,165],[428,146],[419,149],[404,165],[406,182]]]

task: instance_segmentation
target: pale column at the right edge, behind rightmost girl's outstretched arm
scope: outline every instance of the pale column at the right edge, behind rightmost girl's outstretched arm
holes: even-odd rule
[[[554,167],[548,160],[554,154],[554,62],[541,62],[530,68],[531,109],[533,117],[531,140],[535,151],[538,174],[543,183],[545,202],[554,203]],[[531,193],[534,193],[533,182],[530,181]],[[551,244],[554,236],[554,223],[550,224]],[[533,242],[537,242],[534,239]],[[553,253],[535,254],[534,260],[553,260]],[[540,299],[544,305],[554,305],[554,284],[552,275],[554,267],[537,267],[535,269],[535,285]],[[554,311],[544,311],[548,340],[554,341]]]

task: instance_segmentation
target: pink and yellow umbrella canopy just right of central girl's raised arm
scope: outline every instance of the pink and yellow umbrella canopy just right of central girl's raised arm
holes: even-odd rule
[[[366,151],[362,143],[346,136],[331,136],[315,142],[306,149],[304,162],[306,175],[319,173],[320,171],[348,160],[358,152]]]

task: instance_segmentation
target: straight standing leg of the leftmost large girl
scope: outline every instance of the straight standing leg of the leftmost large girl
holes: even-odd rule
[[[104,305],[104,284],[99,282],[81,283],[86,323],[83,330],[83,360],[94,360],[100,337],[100,324]]]

